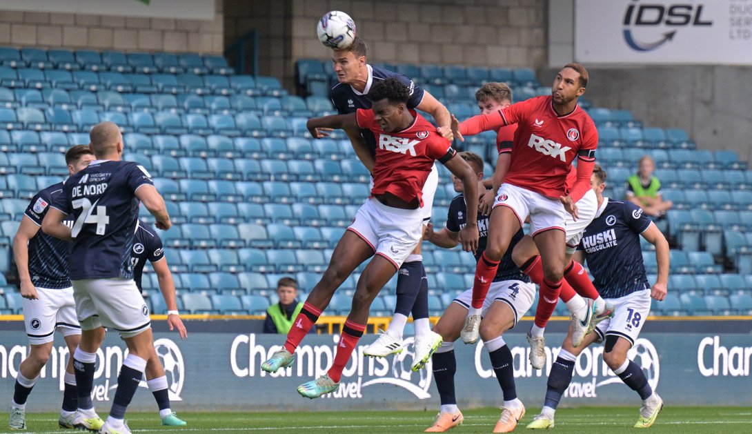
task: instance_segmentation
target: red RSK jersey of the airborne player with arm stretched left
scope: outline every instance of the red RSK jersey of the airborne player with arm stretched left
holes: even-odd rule
[[[460,124],[464,135],[517,124],[511,163],[504,182],[558,198],[566,193],[566,178],[575,156],[595,161],[598,132],[580,106],[559,116],[551,96],[517,102],[493,114],[475,116]]]

